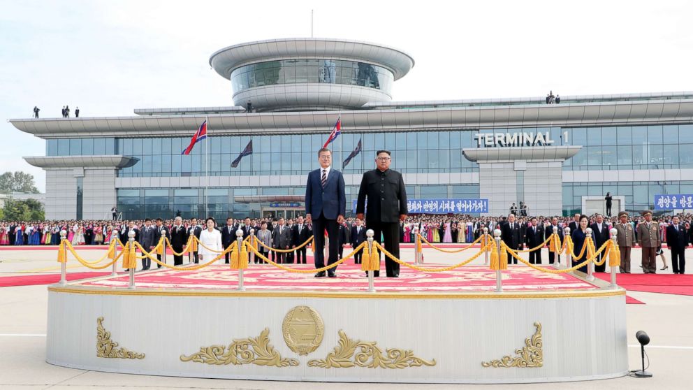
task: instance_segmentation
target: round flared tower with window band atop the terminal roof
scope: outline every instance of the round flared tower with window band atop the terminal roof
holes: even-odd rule
[[[257,111],[339,110],[391,101],[392,83],[414,66],[401,50],[331,38],[241,43],[210,65],[231,80],[233,103]]]

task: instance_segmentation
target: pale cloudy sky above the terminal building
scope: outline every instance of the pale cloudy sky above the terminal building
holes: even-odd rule
[[[693,91],[691,1],[0,0],[0,117],[233,106],[209,66],[272,38],[381,43],[414,57],[393,100]],[[194,131],[194,129],[191,129]],[[0,121],[0,173],[45,141]]]

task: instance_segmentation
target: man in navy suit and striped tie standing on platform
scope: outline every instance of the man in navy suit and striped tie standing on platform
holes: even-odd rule
[[[344,193],[344,176],[331,166],[332,152],[323,147],[318,151],[318,161],[320,169],[308,174],[308,182],[305,186],[305,217],[309,224],[313,224],[315,268],[323,268],[326,229],[330,239],[328,265],[337,261],[338,234],[340,224],[344,222],[346,194]],[[329,277],[337,276],[335,268],[328,270]],[[325,276],[324,271],[315,274],[315,277],[323,276]]]

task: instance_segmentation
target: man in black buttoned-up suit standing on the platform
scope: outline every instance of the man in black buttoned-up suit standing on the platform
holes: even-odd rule
[[[365,212],[366,226],[373,230],[374,239],[380,242],[382,235],[385,250],[399,259],[400,222],[404,222],[409,213],[407,189],[404,188],[402,174],[390,169],[390,151],[378,150],[376,156],[377,169],[367,171],[361,179],[356,201],[356,218],[363,219]],[[400,263],[386,257],[385,268],[388,277],[400,277]],[[379,271],[374,271],[374,276],[379,274]]]

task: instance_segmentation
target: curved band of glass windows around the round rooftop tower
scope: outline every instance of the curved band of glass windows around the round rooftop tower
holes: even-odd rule
[[[325,83],[360,85],[390,92],[394,75],[381,66],[340,59],[282,59],[231,72],[233,92],[265,85]]]

